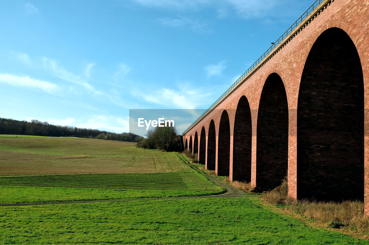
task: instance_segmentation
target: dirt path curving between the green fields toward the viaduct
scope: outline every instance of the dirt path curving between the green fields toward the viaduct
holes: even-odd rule
[[[200,172],[200,171],[199,171]],[[132,199],[105,199],[105,200],[83,200],[83,201],[65,201],[65,202],[38,202],[38,203],[5,203],[0,206],[32,206],[32,205],[50,205],[50,204],[72,204],[72,203],[93,203],[93,202],[129,202],[134,200],[175,200],[175,199],[190,199],[190,198],[235,198],[244,197],[246,193],[232,185],[223,182],[217,176],[205,175],[214,184],[221,186],[225,191],[220,194],[206,196],[180,196],[173,198],[132,198]]]

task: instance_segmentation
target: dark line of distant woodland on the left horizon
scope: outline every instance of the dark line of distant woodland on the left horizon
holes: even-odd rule
[[[0,118],[0,134],[35,135],[55,137],[79,137],[90,139],[106,139],[113,141],[139,142],[144,137],[133,133],[116,134],[98,129],[77,128],[71,126],[52,125],[39,120],[18,121],[14,119]]]

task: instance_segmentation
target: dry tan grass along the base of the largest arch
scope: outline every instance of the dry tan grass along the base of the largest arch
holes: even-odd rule
[[[262,199],[273,205],[285,204],[286,210],[325,223],[330,228],[345,227],[369,233],[369,219],[364,217],[362,201],[296,200],[287,196],[287,178],[283,179],[279,187],[264,193]]]

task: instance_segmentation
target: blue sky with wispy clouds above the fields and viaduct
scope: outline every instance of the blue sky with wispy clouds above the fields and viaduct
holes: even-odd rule
[[[312,3],[1,1],[0,117],[120,133],[129,109],[207,109]]]

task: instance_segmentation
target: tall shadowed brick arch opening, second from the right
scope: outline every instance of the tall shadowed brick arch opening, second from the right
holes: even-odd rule
[[[288,166],[289,111],[282,78],[266,78],[256,126],[256,185],[262,190],[280,185]]]

